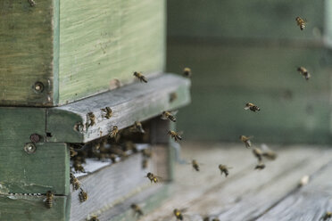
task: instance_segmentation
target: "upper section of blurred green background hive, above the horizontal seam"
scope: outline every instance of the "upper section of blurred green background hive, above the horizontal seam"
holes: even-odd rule
[[[170,37],[238,37],[322,40],[328,1],[168,1]],[[295,18],[308,20],[301,31]]]

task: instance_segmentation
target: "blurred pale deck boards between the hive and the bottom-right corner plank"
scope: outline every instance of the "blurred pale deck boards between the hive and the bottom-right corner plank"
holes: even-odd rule
[[[224,178],[224,182],[221,182],[218,171],[209,167],[210,164],[220,162],[217,157],[214,157],[217,160],[215,162],[212,154],[219,157],[221,154],[208,148],[200,150],[194,151],[190,146],[185,153],[187,152],[197,160],[203,155],[207,156],[209,163],[208,166],[202,165],[202,174],[189,173],[187,168],[178,167],[175,170],[179,178],[175,184],[175,196],[170,198],[161,209],[146,217],[146,221],[156,218],[161,221],[170,220],[174,207],[187,208],[187,217],[193,221],[201,220],[203,215],[220,217],[220,220],[251,220],[285,197],[288,192],[294,190],[302,176],[314,173],[330,160],[328,158],[330,150],[289,146],[278,150],[278,159],[268,163],[267,168],[262,171],[254,171],[255,160],[251,151],[242,149],[243,152],[238,153],[233,149],[224,150],[224,155],[230,160],[229,166],[233,166],[234,170],[241,167],[246,158],[252,160],[253,165],[248,167],[245,164],[245,170],[233,174],[233,177],[230,174],[227,179]],[[241,159],[241,163],[239,163],[239,159]],[[205,160],[201,161],[206,164]],[[203,171],[203,168],[206,168],[207,171]],[[214,172],[214,176],[212,172]],[[191,179],[195,179],[195,182]],[[219,182],[216,182],[218,180]],[[201,188],[204,188],[203,192],[201,192]]]

